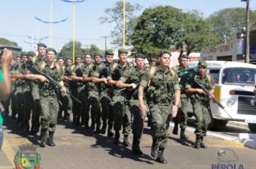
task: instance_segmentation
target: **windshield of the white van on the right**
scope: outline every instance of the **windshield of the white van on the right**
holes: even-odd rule
[[[222,72],[223,84],[255,84],[256,69],[244,67],[226,68]]]

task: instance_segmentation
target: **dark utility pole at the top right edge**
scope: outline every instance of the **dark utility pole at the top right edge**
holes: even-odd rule
[[[246,1],[246,42],[245,42],[245,63],[250,63],[250,0]]]

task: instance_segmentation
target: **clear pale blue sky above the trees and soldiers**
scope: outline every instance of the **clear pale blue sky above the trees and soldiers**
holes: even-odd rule
[[[44,24],[35,19],[50,21],[50,2],[52,1],[52,21],[60,21],[68,18],[60,24],[52,24],[52,47],[60,49],[72,39],[72,4],[61,0],[0,0],[0,37],[17,42],[25,51],[35,50],[35,45],[29,37],[47,37],[50,35],[50,24]],[[104,16],[104,9],[114,7],[118,0],[86,0],[76,3],[76,40],[83,47],[96,44],[104,49],[102,36],[109,36],[114,24],[100,24],[99,17]],[[126,0],[132,4],[139,3],[142,6],[138,15],[145,8],[159,5],[170,5],[183,11],[197,9],[204,17],[230,7],[244,7],[246,2],[241,0]],[[256,10],[255,0],[250,0],[250,9]],[[113,48],[111,39],[107,39],[107,47]],[[42,42],[49,46],[50,38]],[[32,47],[34,46],[34,47]]]

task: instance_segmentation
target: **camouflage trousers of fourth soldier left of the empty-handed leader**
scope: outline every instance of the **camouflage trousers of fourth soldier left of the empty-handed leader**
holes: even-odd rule
[[[97,126],[100,126],[101,121],[101,101],[99,98],[99,92],[89,91],[89,103],[91,107],[91,122],[96,122]]]

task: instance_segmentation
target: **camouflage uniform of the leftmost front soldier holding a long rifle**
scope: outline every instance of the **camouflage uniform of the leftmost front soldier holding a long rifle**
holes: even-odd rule
[[[54,67],[50,67],[47,63],[41,62],[39,65],[40,71],[58,81],[63,76],[63,71],[60,68],[60,65],[55,63]],[[42,147],[45,147],[45,140],[47,137],[47,131],[49,131],[49,138],[53,138],[53,134],[55,132],[55,128],[57,125],[57,117],[58,117],[58,95],[60,95],[58,87],[55,84],[48,82],[40,82],[40,105],[42,107],[42,115],[41,115],[41,130],[43,132],[43,137],[41,140]],[[44,142],[42,144],[42,141]],[[51,140],[52,141],[52,140]],[[48,144],[54,146],[55,144],[50,144],[48,140]]]

